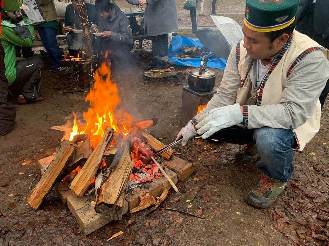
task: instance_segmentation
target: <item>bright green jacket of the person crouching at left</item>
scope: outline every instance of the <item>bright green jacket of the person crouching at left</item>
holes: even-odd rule
[[[2,20],[1,23],[1,28],[2,28],[1,44],[3,49],[5,50],[5,66],[6,66],[5,75],[7,77],[9,86],[16,79],[15,46],[17,45],[17,46],[31,47],[33,44],[32,22],[28,18],[24,17],[23,20],[17,25],[27,26],[31,36],[26,38],[19,37],[14,31],[16,25],[9,20]]]

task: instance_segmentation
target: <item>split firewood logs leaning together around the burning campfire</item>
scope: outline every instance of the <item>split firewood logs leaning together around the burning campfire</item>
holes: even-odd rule
[[[72,171],[82,166],[73,177],[69,189],[82,197],[90,186],[94,186],[96,200],[95,211],[103,207],[115,207],[122,211],[130,174],[133,169],[131,157],[131,137],[136,136],[147,142],[152,149],[158,150],[164,145],[144,129],[155,126],[157,119],[132,123],[131,133],[124,136],[110,127],[95,149],[91,149],[88,135],[76,135],[73,141],[63,140],[53,161],[36,187],[26,197],[30,206],[37,210],[54,185]],[[53,129],[67,130],[56,126]],[[61,129],[62,128],[62,129]],[[174,150],[169,149],[161,156],[169,160]]]

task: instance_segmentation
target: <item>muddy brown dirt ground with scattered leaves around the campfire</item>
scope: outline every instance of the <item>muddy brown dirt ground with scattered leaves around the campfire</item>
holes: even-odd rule
[[[233,1],[232,1],[233,2]],[[241,2],[241,1],[240,1]],[[243,11],[243,8],[242,8]],[[181,128],[182,86],[175,82],[146,80],[142,66],[151,57],[150,43],[135,46],[136,67],[115,68],[113,80],[122,107],[136,120],[158,117],[150,131],[172,142]],[[45,68],[50,64],[47,57]],[[70,65],[70,64],[69,64]],[[179,70],[180,67],[175,67]],[[179,157],[190,161],[195,172],[178,183],[180,194],[170,190],[162,206],[202,214],[199,219],[178,212],[157,209],[125,215],[90,235],[84,235],[75,218],[57,198],[47,196],[38,211],[26,204],[26,195],[40,179],[38,159],[55,152],[62,125],[72,111],[88,108],[87,90],[77,86],[73,68],[43,75],[41,95],[46,99],[17,107],[13,131],[0,137],[0,244],[2,245],[329,245],[329,104],[324,106],[320,131],[303,153],[294,155],[294,172],[287,188],[269,209],[259,210],[243,199],[259,180],[261,172],[253,163],[240,164],[236,153],[243,146],[197,139],[176,147]],[[216,71],[216,86],[223,71]],[[23,161],[31,163],[22,165]],[[119,237],[106,241],[114,233]]]

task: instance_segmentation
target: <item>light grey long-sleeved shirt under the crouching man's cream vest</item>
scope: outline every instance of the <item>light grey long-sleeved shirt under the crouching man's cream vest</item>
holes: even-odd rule
[[[196,120],[207,111],[234,104],[240,86],[240,74],[236,65],[235,47],[228,57],[224,75],[217,93],[208,102]],[[249,73],[253,86],[256,81],[256,61]],[[329,61],[322,51],[314,51],[305,56],[291,71],[286,82],[280,104],[249,106],[249,128],[291,129],[297,128],[310,119],[314,113],[316,101],[329,78]],[[280,81],[279,81],[280,82]],[[253,96],[253,95],[252,95]]]

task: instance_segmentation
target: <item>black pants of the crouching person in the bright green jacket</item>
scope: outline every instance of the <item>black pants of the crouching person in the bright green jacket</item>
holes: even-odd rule
[[[43,62],[39,57],[30,57],[16,62],[16,80],[11,89],[18,91],[27,101],[37,98],[41,87]]]

